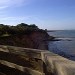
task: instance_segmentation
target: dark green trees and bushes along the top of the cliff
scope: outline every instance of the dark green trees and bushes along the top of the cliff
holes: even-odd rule
[[[16,26],[0,24],[0,35],[23,35],[32,31],[40,30],[35,24],[21,23]]]

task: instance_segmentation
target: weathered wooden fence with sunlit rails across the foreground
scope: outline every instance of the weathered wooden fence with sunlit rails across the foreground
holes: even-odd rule
[[[75,61],[47,50],[0,45],[0,75],[75,75]]]

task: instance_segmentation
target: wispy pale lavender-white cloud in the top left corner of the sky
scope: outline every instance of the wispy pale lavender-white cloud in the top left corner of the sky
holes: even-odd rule
[[[33,0],[1,0],[0,1],[0,9],[4,9],[10,6],[21,6],[24,4],[28,4]]]

